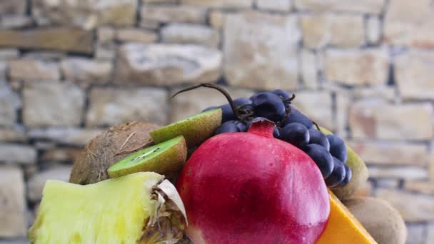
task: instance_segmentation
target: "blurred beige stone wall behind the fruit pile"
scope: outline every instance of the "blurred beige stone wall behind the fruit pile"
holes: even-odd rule
[[[89,138],[223,103],[169,99],[213,81],[296,91],[367,161],[358,194],[434,243],[433,29],[428,0],[1,0],[0,239],[25,238],[44,181],[66,181]]]

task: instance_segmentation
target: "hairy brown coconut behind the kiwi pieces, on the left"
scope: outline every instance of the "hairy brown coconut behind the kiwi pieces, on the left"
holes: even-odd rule
[[[104,181],[107,168],[128,153],[153,144],[149,131],[159,126],[147,122],[123,123],[93,138],[74,162],[69,182],[86,185]]]

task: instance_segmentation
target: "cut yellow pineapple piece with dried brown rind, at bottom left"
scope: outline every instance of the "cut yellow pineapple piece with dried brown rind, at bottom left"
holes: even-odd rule
[[[141,172],[75,185],[46,181],[31,243],[176,243],[186,225],[176,188]]]

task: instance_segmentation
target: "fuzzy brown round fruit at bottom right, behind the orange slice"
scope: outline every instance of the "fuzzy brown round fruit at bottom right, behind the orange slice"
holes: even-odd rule
[[[343,201],[378,244],[404,244],[407,228],[398,210],[378,198],[351,198]]]

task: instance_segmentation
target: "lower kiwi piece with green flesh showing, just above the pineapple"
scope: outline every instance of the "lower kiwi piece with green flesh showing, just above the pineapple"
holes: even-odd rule
[[[132,153],[107,169],[111,178],[130,173],[152,171],[176,178],[187,159],[187,145],[183,136]]]

